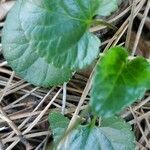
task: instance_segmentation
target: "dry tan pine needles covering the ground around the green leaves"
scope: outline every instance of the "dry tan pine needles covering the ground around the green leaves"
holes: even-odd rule
[[[0,2],[0,39],[8,10],[15,1]],[[114,45],[125,45],[132,53],[150,57],[150,0],[123,1],[120,9],[107,19],[118,27],[91,28],[103,39],[105,52]],[[148,34],[149,33],[149,34]],[[89,100],[92,67],[77,72],[62,87],[43,89],[20,79],[7,66],[0,41],[0,150],[44,150],[52,139],[47,116],[62,111],[70,118],[78,115]],[[76,113],[74,113],[76,111]],[[74,116],[74,117],[73,117]],[[150,149],[150,93],[121,113],[136,135],[137,150]]]

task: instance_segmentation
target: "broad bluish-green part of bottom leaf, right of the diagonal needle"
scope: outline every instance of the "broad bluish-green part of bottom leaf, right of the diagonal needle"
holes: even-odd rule
[[[102,127],[79,126],[57,150],[134,150],[134,142],[131,126],[114,117],[103,120]]]

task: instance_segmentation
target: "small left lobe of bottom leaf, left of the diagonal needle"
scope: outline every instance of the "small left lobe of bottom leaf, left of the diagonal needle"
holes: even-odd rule
[[[58,112],[50,113],[48,120],[53,132],[54,142],[58,142],[67,129],[70,120]]]

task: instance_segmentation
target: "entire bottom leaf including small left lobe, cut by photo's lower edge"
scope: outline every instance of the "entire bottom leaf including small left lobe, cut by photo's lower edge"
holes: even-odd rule
[[[95,120],[86,125],[77,125],[65,135],[69,119],[60,113],[49,116],[53,131],[54,146],[50,149],[57,150],[134,150],[135,138],[131,126],[118,117],[105,118],[100,125],[95,125]],[[59,144],[57,141],[63,141]]]

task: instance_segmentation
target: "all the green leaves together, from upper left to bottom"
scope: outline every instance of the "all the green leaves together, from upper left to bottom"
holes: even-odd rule
[[[119,0],[18,0],[3,29],[3,54],[15,72],[34,85],[62,84],[72,72],[90,65],[99,55],[100,40],[89,28],[105,24]],[[69,120],[50,114],[54,149],[121,149],[135,147],[131,127],[114,117],[149,89],[149,62],[128,58],[123,47],[100,57],[93,77],[88,112],[92,120],[67,130]],[[97,124],[98,120],[99,124]],[[57,146],[56,146],[57,145]]]

